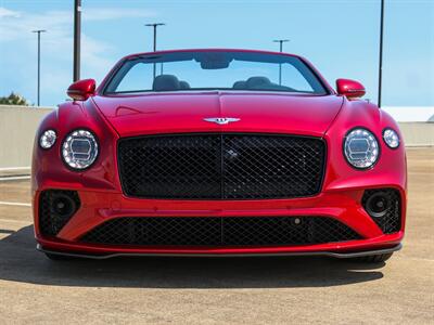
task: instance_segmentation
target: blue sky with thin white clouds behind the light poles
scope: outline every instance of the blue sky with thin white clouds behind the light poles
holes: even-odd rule
[[[0,96],[66,99],[73,79],[74,0],[0,0]],[[376,102],[380,0],[82,0],[81,78],[101,81],[123,56],[152,50],[146,23],[164,22],[157,48],[278,50],[307,57],[334,87],[356,79]],[[434,0],[385,0],[384,106],[434,106]]]

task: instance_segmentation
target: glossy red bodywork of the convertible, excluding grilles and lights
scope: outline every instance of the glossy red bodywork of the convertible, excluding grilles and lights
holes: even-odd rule
[[[324,80],[322,82],[329,87]],[[382,140],[383,130],[392,128],[399,133],[399,129],[390,115],[373,104],[361,100],[348,101],[332,90],[329,95],[316,96],[259,91],[191,91],[108,96],[102,95],[101,89],[84,102],[60,105],[39,127],[34,148],[31,184],[35,235],[44,249],[86,253],[345,252],[387,248],[403,239],[407,191],[404,143],[396,150],[385,145]],[[241,117],[241,120],[222,126],[203,120],[205,117],[219,116]],[[378,164],[368,170],[353,168],[343,154],[344,138],[348,130],[356,127],[369,129],[381,146]],[[72,130],[79,128],[89,129],[97,135],[100,155],[91,168],[77,172],[65,167],[60,146]],[[51,150],[44,151],[39,147],[38,140],[47,129],[54,129],[59,140]],[[116,162],[117,141],[120,138],[195,132],[282,133],[323,138],[328,150],[321,191],[312,197],[248,200],[142,199],[127,197],[123,193]],[[399,136],[403,139],[400,133]],[[365,190],[380,187],[396,188],[401,196],[401,229],[397,233],[383,234],[361,205]],[[80,209],[55,237],[42,236],[39,227],[39,196],[49,188],[75,190],[81,200]],[[286,247],[217,248],[119,247],[78,242],[86,232],[111,219],[167,216],[332,217],[355,230],[363,239]]]

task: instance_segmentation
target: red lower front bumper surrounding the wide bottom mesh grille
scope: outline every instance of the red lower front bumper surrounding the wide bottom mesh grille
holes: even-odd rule
[[[49,187],[52,188],[52,187]],[[361,206],[365,188],[345,188],[321,193],[315,197],[267,200],[186,202],[127,198],[108,191],[77,190],[81,205],[54,237],[39,229],[39,196],[36,192],[35,230],[38,249],[50,253],[104,259],[116,256],[298,256],[322,255],[337,258],[386,253],[398,250],[404,237],[405,191],[401,194],[401,229],[384,234]],[[69,190],[69,188],[68,188]],[[81,243],[80,237],[105,221],[146,217],[296,217],[317,216],[339,220],[362,238],[347,242],[294,246],[131,246]]]

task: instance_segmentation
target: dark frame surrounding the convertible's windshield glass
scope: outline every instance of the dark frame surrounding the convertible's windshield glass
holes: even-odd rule
[[[281,55],[281,56],[291,56],[299,60],[299,62],[309,70],[311,77],[318,81],[318,83],[323,88],[323,92],[306,92],[306,91],[285,91],[285,90],[268,90],[268,89],[233,89],[233,88],[192,88],[192,89],[180,89],[180,90],[167,90],[167,91],[155,91],[155,90],[131,90],[131,91],[115,91],[110,92],[107,88],[113,82],[113,79],[117,76],[119,70],[128,64],[130,61],[137,61],[141,57],[146,56],[155,56],[155,55],[164,55],[171,53],[192,53],[192,52],[234,52],[234,53],[257,53],[265,55]],[[125,76],[124,76],[125,77]],[[305,76],[303,76],[305,77]],[[326,79],[321,76],[321,74],[308,62],[306,58],[281,52],[269,52],[269,51],[258,51],[258,50],[239,50],[239,49],[200,49],[200,50],[171,50],[171,51],[156,51],[156,52],[146,52],[146,53],[137,53],[123,57],[119,60],[116,65],[112,68],[112,70],[107,74],[104,80],[101,82],[100,87],[97,89],[97,94],[105,95],[105,96],[117,96],[117,95],[138,95],[138,94],[165,94],[165,93],[195,93],[195,92],[209,92],[209,91],[225,91],[225,92],[252,92],[252,93],[278,93],[278,94],[289,94],[289,95],[310,95],[310,96],[322,96],[329,94],[335,94],[333,88],[326,81]]]

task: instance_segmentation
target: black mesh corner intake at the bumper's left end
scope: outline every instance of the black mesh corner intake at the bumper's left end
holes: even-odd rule
[[[54,200],[67,196],[74,202],[72,213],[60,216],[53,207]],[[48,190],[39,196],[39,231],[43,236],[55,236],[80,207],[80,199],[75,191]]]

